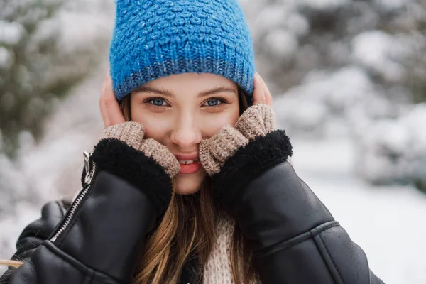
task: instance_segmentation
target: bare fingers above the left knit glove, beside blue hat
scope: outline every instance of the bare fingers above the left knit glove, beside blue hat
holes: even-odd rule
[[[112,89],[112,80],[109,75],[109,70],[107,75],[105,75],[104,82],[102,84],[99,108],[101,110],[102,121],[104,121],[105,128],[126,122],[126,119],[124,119],[124,116],[121,113],[120,105],[115,97],[114,90]]]

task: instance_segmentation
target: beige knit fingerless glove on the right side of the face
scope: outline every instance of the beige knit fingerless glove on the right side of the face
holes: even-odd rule
[[[200,163],[209,175],[220,169],[239,148],[258,136],[275,129],[275,114],[266,104],[256,104],[242,114],[235,126],[224,126],[219,132],[200,143]]]

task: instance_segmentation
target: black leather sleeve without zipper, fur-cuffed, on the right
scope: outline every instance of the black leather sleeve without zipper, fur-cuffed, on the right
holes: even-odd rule
[[[213,176],[214,191],[253,242],[262,283],[378,284],[351,241],[287,162],[283,131],[258,137]]]

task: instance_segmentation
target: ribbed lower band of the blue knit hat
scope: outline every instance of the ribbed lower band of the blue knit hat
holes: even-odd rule
[[[229,78],[239,85],[246,94],[253,93],[254,67],[248,64],[251,58],[245,58],[238,50],[224,42],[168,43],[167,45],[148,45],[136,47],[123,58],[119,54],[110,55],[115,67],[111,74],[117,99],[126,97],[133,89],[146,82],[185,72],[212,73]],[[150,52],[144,52],[145,50]],[[130,75],[127,75],[130,74]]]

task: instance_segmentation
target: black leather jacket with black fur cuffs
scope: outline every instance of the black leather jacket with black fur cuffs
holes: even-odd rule
[[[261,283],[383,283],[288,155],[287,136],[274,131],[239,149],[212,177],[217,202],[253,241]],[[167,207],[170,178],[120,141],[101,141],[88,168],[73,204],[45,204],[24,229],[13,256],[24,264],[0,283],[131,283],[146,234]],[[192,283],[190,269],[182,283]]]

